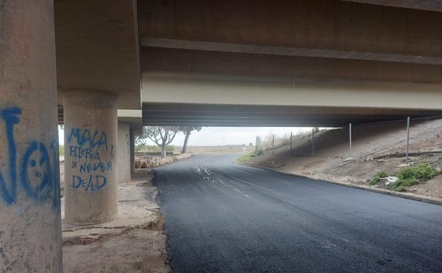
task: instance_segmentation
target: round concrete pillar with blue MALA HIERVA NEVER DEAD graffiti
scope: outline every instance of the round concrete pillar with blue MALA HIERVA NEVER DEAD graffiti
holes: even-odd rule
[[[118,216],[117,98],[64,94],[64,220],[86,225]]]

